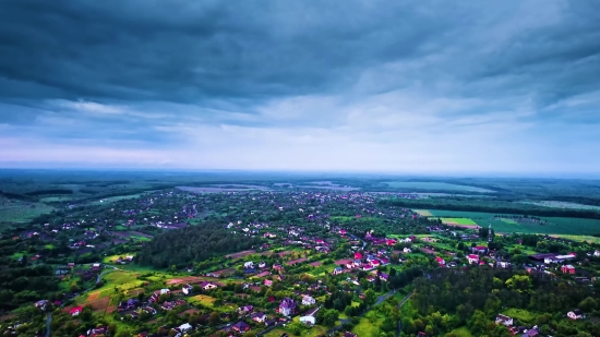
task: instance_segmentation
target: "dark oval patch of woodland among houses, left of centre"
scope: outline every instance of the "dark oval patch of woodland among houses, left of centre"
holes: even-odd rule
[[[223,225],[205,222],[175,229],[155,237],[136,255],[137,263],[155,268],[191,266],[204,260],[248,250],[257,238],[233,234]]]

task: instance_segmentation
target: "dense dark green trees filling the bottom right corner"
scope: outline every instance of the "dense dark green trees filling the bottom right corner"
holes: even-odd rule
[[[403,332],[409,335],[424,330],[428,335],[454,337],[448,332],[466,325],[473,336],[511,336],[504,326],[493,324],[496,314],[507,308],[538,313],[515,325],[538,325],[543,335],[574,336],[581,332],[600,335],[597,324],[589,321],[574,324],[564,318],[576,308],[588,316],[598,316],[598,287],[485,267],[466,272],[436,269],[428,278],[418,279],[415,286],[415,312],[403,318]]]

